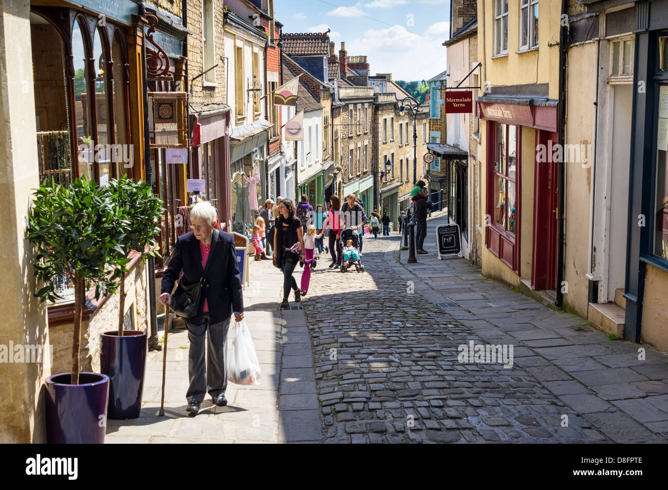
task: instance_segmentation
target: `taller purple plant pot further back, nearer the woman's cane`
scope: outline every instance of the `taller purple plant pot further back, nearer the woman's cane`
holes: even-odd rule
[[[142,409],[146,371],[146,332],[124,330],[102,334],[100,370],[109,377],[108,417],[136,419]]]

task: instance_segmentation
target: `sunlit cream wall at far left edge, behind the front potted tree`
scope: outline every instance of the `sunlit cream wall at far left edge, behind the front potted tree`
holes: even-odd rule
[[[27,0],[0,3],[0,344],[49,344],[46,308],[35,298],[33,248],[23,239],[34,188],[35,93]],[[0,363],[0,443],[45,442],[45,363]]]

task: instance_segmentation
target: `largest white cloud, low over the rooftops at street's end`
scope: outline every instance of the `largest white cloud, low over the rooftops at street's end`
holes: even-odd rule
[[[392,73],[392,79],[429,79],[447,67],[446,48],[441,45],[447,22],[428,28],[434,34],[425,37],[411,33],[401,25],[387,29],[369,29],[361,38],[346,42],[349,55],[367,55],[371,73]]]

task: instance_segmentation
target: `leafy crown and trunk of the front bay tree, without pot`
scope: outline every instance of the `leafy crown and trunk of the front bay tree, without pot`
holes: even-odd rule
[[[122,256],[130,221],[126,219],[109,186],[77,178],[69,187],[45,182],[33,194],[26,238],[35,246],[35,276],[45,283],[35,296],[41,302],[59,298],[53,278],[63,271],[73,278],[74,330],[72,385],[79,384],[81,312],[86,290],[95,286],[95,297],[113,293],[127,272],[129,258]],[[88,284],[88,286],[87,286]]]

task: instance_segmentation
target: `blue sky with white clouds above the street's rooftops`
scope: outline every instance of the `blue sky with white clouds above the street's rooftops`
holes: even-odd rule
[[[449,0],[276,0],[283,32],[324,32],[336,51],[367,55],[371,73],[429,79],[444,71],[450,37]]]

